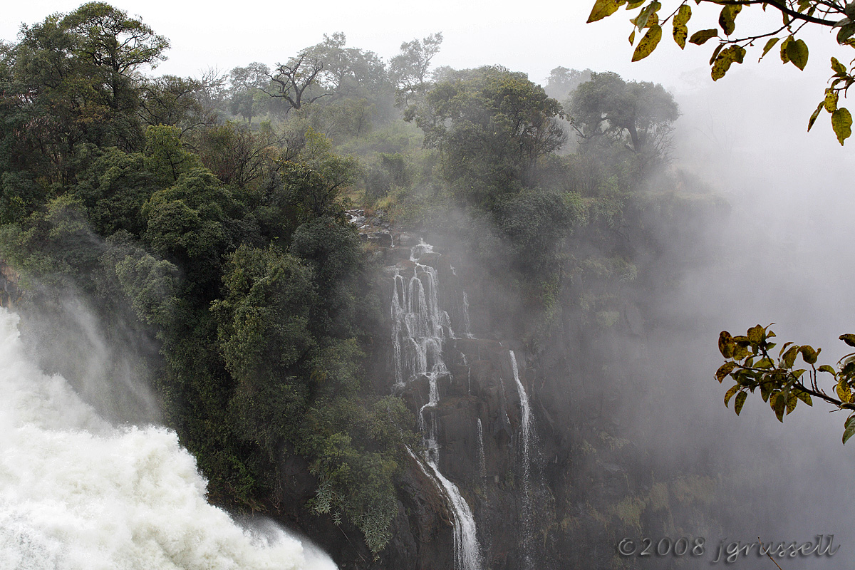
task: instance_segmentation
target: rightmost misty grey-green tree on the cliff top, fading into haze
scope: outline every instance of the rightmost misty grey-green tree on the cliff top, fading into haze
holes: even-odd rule
[[[582,141],[606,137],[626,144],[642,162],[667,158],[680,110],[662,85],[626,82],[617,73],[592,73],[570,99],[573,126]]]

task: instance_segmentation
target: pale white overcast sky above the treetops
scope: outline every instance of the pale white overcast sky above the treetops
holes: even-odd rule
[[[662,83],[672,91],[691,90],[702,81],[711,83],[707,59],[712,44],[688,45],[681,53],[666,30],[652,56],[631,63],[632,48],[627,41],[630,14],[621,10],[604,21],[586,24],[593,0],[433,0],[421,4],[400,0],[115,0],[112,4],[141,16],[171,41],[169,59],[157,73],[198,77],[208,68],[227,71],[250,62],[273,65],[317,44],[324,33],[333,32],[345,32],[349,45],[374,51],[388,61],[398,53],[402,42],[442,32],[445,42],[434,59],[436,65],[472,68],[501,64],[526,72],[541,84],[557,66],[615,71],[627,79]],[[78,0],[7,3],[0,21],[0,38],[14,41],[21,22],[42,21],[46,15],[68,13],[79,5]],[[669,5],[666,3],[666,8]],[[703,13],[704,7],[694,9],[691,30],[715,26],[714,12]],[[753,15],[740,15],[739,25],[750,25]],[[772,17],[759,16],[761,20]],[[702,26],[699,21],[704,17]],[[811,50],[832,44],[827,32],[814,35],[817,41],[811,43]],[[748,59],[756,73],[770,77],[799,74],[792,65],[784,68],[773,58],[760,65],[751,56]],[[817,61],[820,56],[811,53],[811,59],[812,66],[809,64],[805,73],[825,73],[828,56]],[[827,77],[826,73],[820,80]]]

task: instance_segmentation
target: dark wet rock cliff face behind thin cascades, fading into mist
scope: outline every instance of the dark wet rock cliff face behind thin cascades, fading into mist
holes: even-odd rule
[[[422,238],[433,244],[430,251],[413,249]],[[368,239],[377,243],[375,255],[387,267],[378,283],[388,320],[380,341],[385,349],[373,371],[377,388],[400,394],[412,413],[422,416],[425,438],[438,448],[439,471],[474,514],[481,567],[620,567],[619,535],[661,527],[667,514],[667,505],[656,497],[636,497],[639,489],[662,487],[653,485],[647,467],[639,468],[646,457],[621,437],[627,435],[619,420],[622,379],[646,366],[643,351],[628,350],[644,334],[639,307],[618,300],[610,314],[614,322],[603,331],[574,309],[575,291],[565,288],[560,318],[533,345],[525,336],[539,323],[526,320],[537,313],[522,307],[501,279],[464,259],[451,238],[394,233],[388,238],[392,247],[383,245],[386,233]],[[428,354],[433,373],[404,374],[403,384],[396,385],[400,372],[389,305],[402,276],[404,282],[427,283],[427,267],[435,270],[440,312],[447,314],[444,367],[432,368]],[[429,296],[430,286],[424,287]],[[627,338],[634,340],[627,343]],[[417,467],[415,462],[409,467],[405,481],[415,477]],[[409,516],[398,517],[396,538],[377,567],[453,567],[448,558],[453,544],[444,542],[449,533],[435,532],[441,518],[436,505],[449,505],[450,497],[435,481],[421,483],[400,486],[402,504],[423,508],[416,513],[405,508]],[[667,503],[667,490],[664,495]],[[423,558],[428,552],[440,557]],[[420,553],[415,565],[389,565],[412,560],[412,553]]]

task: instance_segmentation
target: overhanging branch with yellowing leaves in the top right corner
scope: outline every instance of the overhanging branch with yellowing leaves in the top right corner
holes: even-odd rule
[[[675,9],[668,13],[663,11],[662,3],[657,0],[646,0],[640,2],[628,2],[627,0],[596,0],[588,17],[588,22],[602,20],[606,16],[614,14],[622,5],[628,10],[640,9],[638,15],[632,19],[633,32],[629,35],[630,44],[635,44],[636,32],[640,39],[635,44],[633,61],[649,56],[656,49],[662,38],[663,26],[672,22],[672,33],[675,42],[681,49],[686,47],[686,40],[690,44],[702,45],[712,38],[717,38],[718,43],[713,50],[710,59],[711,76],[714,81],[722,79],[733,63],[742,63],[747,55],[746,48],[759,47],[763,43],[760,54],[762,60],[769,51],[777,47],[781,56],[781,62],[793,63],[799,69],[804,69],[808,62],[808,46],[805,40],[797,38],[805,26],[828,27],[829,31],[839,28],[835,38],[837,44],[846,47],[855,47],[855,3],[845,3],[843,0],[773,0],[771,2],[760,2],[759,0],[695,0],[695,3],[706,3],[721,5],[722,9],[718,16],[718,27],[721,28],[723,36],[719,35],[716,27],[699,30],[690,37],[688,35],[687,23],[692,17],[692,7],[688,0],[680,3],[672,3]],[[752,4],[762,4],[763,9],[772,8],[781,15],[781,23],[767,24],[764,32],[752,34],[737,34],[736,17],[742,9]],[[646,32],[645,32],[646,30]],[[641,36],[643,32],[643,36]],[[843,58],[846,61],[846,58]],[[808,120],[808,130],[817,120],[823,109],[831,115],[831,126],[837,135],[840,144],[852,134],[852,115],[845,107],[838,107],[840,94],[846,97],[846,91],[855,83],[855,67],[846,68],[836,57],[831,58],[831,69],[834,74],[829,79],[830,85],[825,89],[823,100],[817,105],[817,109]]]

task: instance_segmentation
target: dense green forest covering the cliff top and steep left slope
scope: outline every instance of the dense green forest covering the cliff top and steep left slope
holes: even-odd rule
[[[347,211],[446,232],[510,273],[534,347],[559,299],[614,326],[617,292],[662,247],[650,216],[720,206],[666,172],[679,111],[661,85],[556,68],[563,105],[501,66],[431,68],[442,39],[384,62],[336,32],[275,65],[156,77],[168,40],[86,3],[0,46],[0,261],[22,310],[79,295],[156,347],[136,369],[212,502],[280,513],[299,460],[317,482],[305,507],[374,555],[420,438],[372,375],[387,252]],[[692,197],[650,191],[652,164]]]

